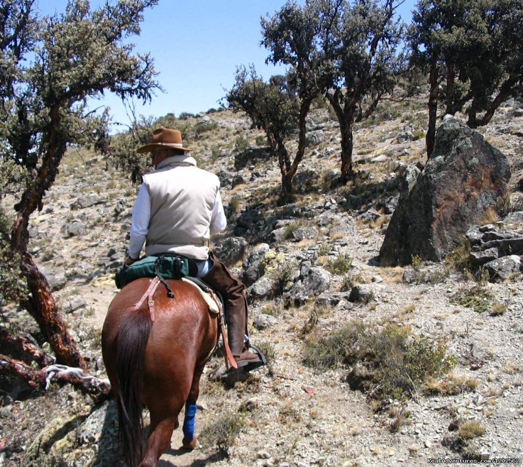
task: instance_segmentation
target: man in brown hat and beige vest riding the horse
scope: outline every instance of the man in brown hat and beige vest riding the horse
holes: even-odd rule
[[[209,249],[210,235],[225,229],[220,181],[197,167],[178,130],[160,128],[137,152],[150,152],[155,166],[142,178],[134,203],[129,257],[131,265],[145,243],[147,256],[184,255],[196,261],[198,277],[220,292],[228,324],[228,341],[238,368],[250,371],[265,359],[249,350],[245,286]]]

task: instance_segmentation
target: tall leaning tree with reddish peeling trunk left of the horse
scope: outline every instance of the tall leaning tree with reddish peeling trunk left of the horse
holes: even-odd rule
[[[28,252],[29,219],[42,209],[67,145],[104,134],[99,128],[106,115],[90,112],[87,98],[110,90],[146,101],[158,88],[151,56],[133,55],[127,40],[140,33],[144,10],[157,1],[120,0],[91,10],[86,0],[70,0],[66,13],[43,18],[37,18],[34,0],[0,2],[0,197],[9,191],[16,196],[15,209],[4,216],[11,222],[0,222],[7,250],[0,270],[18,266],[25,283],[20,305],[39,324],[57,361],[69,366],[85,368],[85,361]],[[22,370],[6,363],[0,372],[17,368]]]

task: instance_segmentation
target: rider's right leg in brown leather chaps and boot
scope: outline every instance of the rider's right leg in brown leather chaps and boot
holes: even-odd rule
[[[245,337],[248,342],[245,286],[212,252],[209,253],[209,258],[213,265],[202,280],[222,295],[232,355],[238,366],[259,361],[259,356],[249,352],[248,345],[244,342]]]

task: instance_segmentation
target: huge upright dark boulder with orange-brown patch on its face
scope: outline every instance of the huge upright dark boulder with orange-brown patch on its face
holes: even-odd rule
[[[415,255],[441,260],[487,208],[503,203],[509,180],[507,157],[461,120],[446,117],[423,172],[407,172],[381,263],[410,264]]]

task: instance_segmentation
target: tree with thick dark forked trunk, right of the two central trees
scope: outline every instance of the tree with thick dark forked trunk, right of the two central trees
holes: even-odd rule
[[[326,89],[342,133],[341,181],[353,175],[354,122],[368,118],[384,94],[392,94],[404,67],[399,48],[403,24],[394,19],[402,2],[356,0],[319,2],[322,9],[323,40],[335,44],[329,57],[336,66]],[[335,7],[333,7],[333,5]]]

